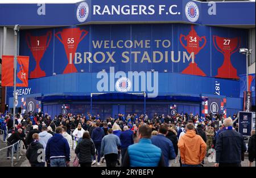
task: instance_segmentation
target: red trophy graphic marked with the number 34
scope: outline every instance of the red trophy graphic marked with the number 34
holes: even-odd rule
[[[184,37],[184,40],[187,41],[187,46],[183,44],[182,37]],[[199,42],[204,39],[204,44],[200,47]],[[180,35],[180,43],[187,50],[189,54],[192,52],[194,53],[194,58],[196,58],[196,54],[200,52],[201,49],[204,48],[205,44],[207,43],[207,40],[205,36],[198,36],[193,25],[191,26],[191,31],[188,33],[187,36],[181,34]],[[206,76],[206,74],[201,70],[196,62],[192,63],[190,62],[188,67],[185,68],[181,73],[183,74],[190,74],[190,75],[201,75],[201,76]]]

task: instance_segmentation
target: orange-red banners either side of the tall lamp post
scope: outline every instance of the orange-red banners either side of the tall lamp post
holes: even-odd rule
[[[16,86],[28,87],[28,56],[17,57]],[[2,56],[2,86],[13,86],[14,56]]]

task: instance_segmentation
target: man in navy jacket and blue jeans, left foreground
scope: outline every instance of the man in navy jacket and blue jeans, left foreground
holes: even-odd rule
[[[70,161],[68,141],[63,137],[62,130],[60,126],[57,127],[46,145],[46,161],[51,163],[51,167],[66,167]]]

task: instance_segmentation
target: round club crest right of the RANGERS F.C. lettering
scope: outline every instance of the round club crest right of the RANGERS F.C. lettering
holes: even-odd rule
[[[199,19],[199,8],[195,2],[188,2],[185,6],[185,14],[190,22],[196,22]]]

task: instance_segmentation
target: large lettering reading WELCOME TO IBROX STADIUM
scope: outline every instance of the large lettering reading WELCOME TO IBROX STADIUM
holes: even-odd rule
[[[147,50],[142,51],[143,48],[148,49],[151,48],[151,43],[154,43],[156,49],[152,51],[152,56],[150,55],[150,52],[147,52]],[[95,53],[91,52],[84,52],[84,53],[69,53],[69,63],[86,63],[87,61],[89,63],[102,63],[102,62],[117,62],[121,61],[122,63],[127,63],[130,60],[134,60],[135,63],[140,62],[149,62],[149,63],[159,63],[159,62],[180,62],[182,61],[185,63],[186,61],[191,61],[192,63],[195,62],[195,54],[192,52],[191,54],[183,51],[166,51],[163,49],[170,48],[171,47],[171,40],[105,40],[105,41],[92,41],[93,49],[112,49],[112,52],[102,52],[98,51]],[[68,48],[73,48],[73,45],[69,45]],[[139,51],[123,51],[120,54],[118,54],[117,57],[115,57],[115,50],[117,49],[129,49],[129,48],[140,48]],[[75,56],[75,61],[73,61],[73,55]],[[117,60],[117,61],[116,61]]]

